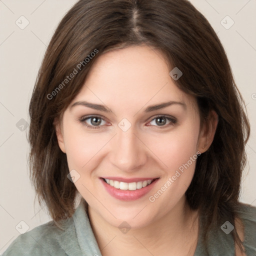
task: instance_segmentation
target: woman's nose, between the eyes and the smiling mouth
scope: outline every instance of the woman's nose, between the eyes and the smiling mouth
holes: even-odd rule
[[[116,132],[111,141],[111,163],[115,168],[125,172],[141,169],[147,160],[145,144],[135,134],[132,126],[126,131],[117,127]]]

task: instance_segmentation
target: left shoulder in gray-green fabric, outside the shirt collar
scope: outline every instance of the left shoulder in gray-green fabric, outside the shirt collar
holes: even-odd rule
[[[20,234],[9,245],[3,256],[66,255],[61,242],[72,233],[72,229],[72,218],[62,221],[61,228],[53,221],[49,221]]]

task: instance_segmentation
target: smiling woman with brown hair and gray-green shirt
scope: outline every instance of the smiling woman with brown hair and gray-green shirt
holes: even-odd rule
[[[53,221],[3,255],[256,255],[256,209],[238,201],[243,104],[188,1],[78,1],[29,106],[31,179]]]

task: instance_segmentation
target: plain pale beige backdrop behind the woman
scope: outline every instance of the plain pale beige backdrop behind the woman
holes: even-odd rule
[[[27,110],[46,45],[75,2],[0,0],[0,253],[21,229],[31,230],[50,220],[44,207],[34,202],[29,181]],[[251,135],[240,201],[256,206],[256,0],[191,2],[219,36],[246,103]]]

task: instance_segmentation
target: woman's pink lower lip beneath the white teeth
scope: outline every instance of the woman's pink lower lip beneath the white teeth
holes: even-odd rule
[[[144,196],[146,193],[148,193],[154,184],[158,181],[159,178],[152,181],[150,184],[148,184],[145,187],[142,187],[140,189],[136,190],[122,190],[115,188],[113,186],[110,186],[107,184],[102,178],[100,178],[103,186],[105,187],[106,191],[112,195],[114,198],[123,200],[123,201],[130,201],[130,200],[136,200]]]

